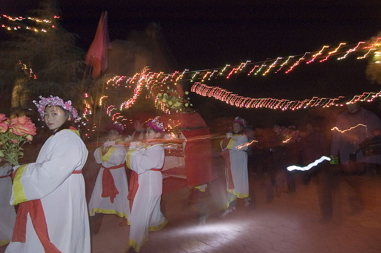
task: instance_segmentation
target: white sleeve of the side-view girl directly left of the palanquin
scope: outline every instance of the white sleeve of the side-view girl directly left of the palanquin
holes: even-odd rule
[[[161,169],[164,165],[164,149],[154,145],[148,149],[130,150],[126,155],[126,164],[138,174],[150,169]]]

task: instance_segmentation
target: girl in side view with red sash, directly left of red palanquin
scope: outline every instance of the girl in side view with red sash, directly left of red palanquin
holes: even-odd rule
[[[158,118],[146,123],[147,145],[132,142],[126,155],[126,164],[133,170],[130,183],[129,252],[138,252],[148,239],[148,231],[164,228],[168,220],[163,216],[160,201],[163,192],[164,149],[160,138],[164,126]]]

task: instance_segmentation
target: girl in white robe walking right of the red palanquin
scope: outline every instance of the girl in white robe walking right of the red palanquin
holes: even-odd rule
[[[248,206],[251,199],[249,197],[249,180],[247,173],[247,150],[248,139],[243,133],[245,121],[236,117],[233,121],[233,133],[227,133],[220,145],[225,158],[225,174],[228,191],[228,208],[223,215],[236,209],[237,198],[245,200]]]

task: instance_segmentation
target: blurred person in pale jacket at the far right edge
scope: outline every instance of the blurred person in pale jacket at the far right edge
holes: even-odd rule
[[[344,179],[354,190],[350,193],[349,202],[352,213],[357,213],[362,210],[364,201],[373,205],[373,200],[364,198],[362,176],[375,164],[381,164],[381,155],[364,156],[360,143],[381,133],[381,121],[359,103],[350,103],[347,104],[346,111],[338,117],[336,128],[330,155],[333,160],[340,161]]]

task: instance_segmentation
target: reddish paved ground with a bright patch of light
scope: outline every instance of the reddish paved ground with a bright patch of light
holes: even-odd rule
[[[267,175],[250,174],[251,205],[238,201],[235,212],[220,218],[226,194],[221,164],[215,158],[218,178],[198,205],[187,204],[184,182],[164,180],[162,211],[169,223],[150,232],[141,252],[381,252],[381,177],[364,177],[363,194],[373,204],[356,213],[348,205],[352,189],[340,179],[333,217],[325,221],[320,215],[319,176],[308,186],[297,177],[296,192],[276,197]],[[119,221],[115,215],[104,216],[99,234],[92,236],[93,253],[126,249],[129,227],[118,227]]]

